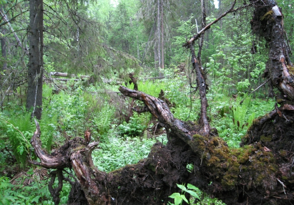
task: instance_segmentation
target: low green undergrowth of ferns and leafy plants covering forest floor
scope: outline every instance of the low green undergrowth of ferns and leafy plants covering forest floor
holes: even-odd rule
[[[157,97],[163,90],[174,116],[196,123],[200,100],[194,93],[190,96],[186,74],[176,69],[165,72],[167,78],[164,79],[139,79],[138,89]],[[209,121],[230,147],[238,147],[253,119],[271,111],[274,100],[267,99],[262,91],[255,96],[238,90],[229,94],[214,84],[217,83],[212,83],[207,94]],[[134,87],[129,83],[126,86]],[[57,87],[47,82],[43,87],[43,100],[40,121],[43,148],[50,152],[73,137],[83,137],[85,130],[90,130],[92,141],[100,142],[92,156],[101,171],[110,172],[137,163],[148,156],[155,142],[167,142],[164,128],[150,113],[132,112],[131,104],[140,107],[141,103],[122,96],[115,83],[102,87],[69,81]],[[47,171],[27,162],[28,158],[37,160],[30,144],[35,126],[25,108],[18,105],[8,103],[0,113],[0,204],[54,204],[47,187],[50,181]],[[74,180],[72,170],[64,172]],[[70,184],[64,182],[61,204],[67,203],[69,192]],[[197,193],[202,194],[201,191]],[[207,196],[198,200],[198,204],[211,203],[222,204]]]

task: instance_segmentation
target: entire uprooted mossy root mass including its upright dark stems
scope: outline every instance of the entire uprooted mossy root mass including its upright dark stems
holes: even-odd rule
[[[256,1],[254,6],[253,30],[258,21],[266,21],[259,27],[270,45],[267,76],[283,93],[283,106],[256,119],[241,148],[228,148],[207,121],[205,75],[193,48],[193,41],[208,29],[205,26],[187,42],[201,98],[199,124],[174,118],[161,99],[121,86],[122,94],[145,104],[138,112],[151,112],[165,127],[167,145],[156,143],[148,158],[105,173],[97,170],[91,160],[91,151],[98,142],[87,145],[77,137],[49,155],[41,148],[36,122],[31,142],[41,162],[31,163],[55,169],[72,167],[89,204],[167,204],[168,196],[179,191],[176,183],[191,183],[228,205],[293,204],[294,92],[289,74],[292,64],[283,40],[283,16],[272,1]],[[226,13],[231,11],[233,6]],[[192,172],[187,164],[193,164]]]

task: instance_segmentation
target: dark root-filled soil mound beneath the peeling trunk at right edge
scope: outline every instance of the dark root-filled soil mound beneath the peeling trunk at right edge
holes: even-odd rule
[[[288,190],[294,190],[294,112],[289,110],[272,111],[256,119],[242,139],[241,146],[254,144],[260,149],[271,151],[275,163],[277,184],[283,183]],[[280,187],[282,189],[282,187]],[[281,193],[283,191],[281,190]],[[284,194],[283,197],[286,195]],[[293,201],[293,196],[289,200]],[[286,204],[286,203],[277,203]]]

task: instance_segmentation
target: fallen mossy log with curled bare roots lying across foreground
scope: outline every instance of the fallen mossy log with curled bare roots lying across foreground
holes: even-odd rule
[[[93,167],[90,160],[97,142],[87,145],[84,139],[74,138],[49,155],[41,148],[40,127],[36,123],[32,145],[41,162],[32,163],[55,169],[72,167],[89,204],[167,204],[171,200],[168,196],[179,191],[176,183],[196,185],[228,205],[293,202],[290,148],[284,151],[283,164],[277,163],[281,155],[275,153],[279,151],[269,151],[260,140],[229,149],[214,129],[202,136],[199,125],[174,118],[162,100],[126,87],[119,90],[145,103],[166,128],[167,145],[156,143],[148,158],[105,173]],[[279,112],[290,118],[286,110]],[[272,116],[279,116],[275,113],[278,111]],[[52,167],[51,161],[55,163]],[[191,172],[187,164],[193,165]]]

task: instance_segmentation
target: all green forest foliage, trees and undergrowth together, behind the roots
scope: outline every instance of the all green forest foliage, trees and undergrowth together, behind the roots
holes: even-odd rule
[[[150,8],[153,8],[152,1],[144,3],[146,2]],[[189,59],[189,52],[183,49],[182,44],[196,32],[192,11],[198,12],[195,16],[200,24],[200,10],[195,9],[200,8],[199,2],[179,1],[171,4],[168,1],[164,2],[167,3],[165,5],[167,7],[176,7],[174,13],[179,14],[176,17],[179,21],[173,19],[174,15],[164,14],[165,17],[171,17],[164,22],[169,26],[164,27],[164,52],[167,65],[164,70],[150,68],[154,64],[153,49],[156,47],[154,41],[150,41],[145,58],[145,63],[150,67],[145,68],[144,77],[151,75],[157,77],[162,73],[169,78],[139,81],[138,87],[140,91],[156,97],[161,89],[164,90],[165,97],[173,103],[170,110],[176,118],[185,120],[189,116],[188,120],[197,121],[199,97],[190,93],[189,81],[185,75],[187,66],[186,71],[180,73],[176,65]],[[283,8],[285,30],[289,34],[289,44],[293,46],[294,16],[291,12],[293,1],[277,2]],[[66,84],[58,84],[54,81],[50,85],[44,84],[43,114],[39,122],[43,148],[50,152],[53,147],[60,146],[65,140],[83,136],[84,131],[90,129],[92,138],[100,140],[100,149],[93,152],[93,161],[100,170],[109,172],[146,157],[150,147],[156,142],[155,139],[147,138],[150,114],[134,113],[130,121],[125,122],[124,118],[129,114],[128,101],[124,101],[117,93],[108,92],[118,91],[115,76],[126,79],[128,73],[139,70],[138,60],[133,56],[140,59],[149,34],[154,37],[155,31],[151,32],[154,18],[148,19],[145,16],[139,17],[141,21],[138,20],[139,9],[147,11],[146,8],[140,8],[141,2],[138,0],[73,1],[72,4],[45,1],[45,3],[45,75],[52,71],[70,72],[75,75],[91,75],[91,79],[95,80],[111,78],[113,83],[103,86],[97,83],[85,87],[83,82],[89,82],[86,79],[83,82],[70,81]],[[211,1],[207,4],[207,9],[210,10],[207,13],[211,13],[207,20],[211,22],[215,15],[218,15],[219,10],[214,8]],[[16,31],[9,32],[10,28],[5,24],[1,26],[0,33],[7,45],[7,56],[0,57],[1,68],[4,62],[7,63],[7,68],[0,71],[1,99],[3,98],[1,102],[3,112],[0,113],[2,165],[0,172],[1,175],[8,173],[10,176],[15,164],[18,169],[28,168],[26,161],[31,149],[29,142],[35,130],[30,115],[23,111],[25,102],[23,93],[26,93],[26,84],[23,85],[22,82],[26,81],[28,57],[20,47],[15,46],[14,37],[17,34],[21,37],[22,44],[26,43],[29,8],[27,2],[14,0],[2,0],[1,5],[11,20],[12,28]],[[248,16],[252,14],[251,10],[247,12]],[[156,12],[152,15],[156,15]],[[265,41],[256,39],[251,34],[249,22],[247,16],[244,17],[242,14],[236,16],[228,14],[221,25],[215,24],[205,33],[202,50],[202,65],[208,73],[207,83],[211,84],[207,94],[209,121],[212,127],[217,128],[220,137],[232,147],[239,145],[241,137],[254,118],[264,115],[274,106],[274,100],[265,99],[267,93],[265,88],[255,92],[251,98],[247,97],[242,105],[239,104],[242,96],[246,96],[249,89],[262,82],[262,73],[267,61]],[[167,31],[171,31],[170,37]],[[170,39],[172,45],[169,43]],[[193,76],[192,81],[195,82]],[[134,88],[134,84],[128,83],[126,86]],[[55,91],[56,94],[52,94]],[[239,97],[233,99],[232,94]],[[160,136],[158,140],[166,141],[166,137]],[[187,165],[187,168],[192,170],[191,166],[191,164]],[[17,187],[10,184],[6,176],[1,176],[0,182],[0,203],[53,204],[49,192],[44,188],[47,181],[42,181],[40,185],[34,182],[30,186]],[[196,189],[189,186],[186,188],[179,185],[179,188],[182,192],[193,191],[200,196]],[[61,203],[67,203],[68,184],[64,187]],[[183,193],[173,196],[175,200],[177,198],[175,203],[187,200]],[[208,197],[199,203],[222,204]]]

